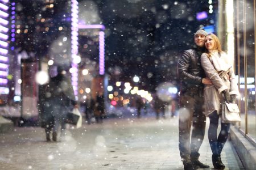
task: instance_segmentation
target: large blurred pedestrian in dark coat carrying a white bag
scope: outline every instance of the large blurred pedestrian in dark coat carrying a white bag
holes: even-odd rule
[[[64,66],[57,66],[57,75],[51,78],[47,85],[46,111],[54,119],[52,128],[53,141],[57,141],[58,133],[60,133],[60,136],[64,135],[67,113],[72,108],[77,108],[71,80],[67,74],[68,69],[65,69]]]

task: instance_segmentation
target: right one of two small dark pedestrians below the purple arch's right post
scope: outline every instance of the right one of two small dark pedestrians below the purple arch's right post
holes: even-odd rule
[[[102,123],[103,117],[105,116],[105,102],[104,102],[104,95],[100,92],[96,96],[96,103],[94,105],[94,116],[96,118],[96,123]]]

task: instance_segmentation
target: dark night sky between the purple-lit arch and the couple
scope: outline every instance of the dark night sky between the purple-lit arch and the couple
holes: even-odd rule
[[[177,84],[177,57],[191,48],[200,25],[210,24],[196,20],[197,12],[208,11],[208,1],[96,2],[106,27],[106,68],[120,70],[123,80],[141,76],[141,86],[151,91],[161,82]]]

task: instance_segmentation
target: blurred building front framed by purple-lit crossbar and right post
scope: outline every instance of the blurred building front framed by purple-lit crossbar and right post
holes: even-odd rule
[[[83,101],[85,96],[104,92],[105,75],[105,37],[104,25],[79,24],[79,55],[81,63],[79,67],[79,99]],[[88,74],[85,74],[88,70]]]

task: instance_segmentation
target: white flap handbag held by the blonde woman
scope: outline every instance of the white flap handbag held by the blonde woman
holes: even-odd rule
[[[241,122],[239,108],[236,103],[222,103],[221,122],[236,123]]]

